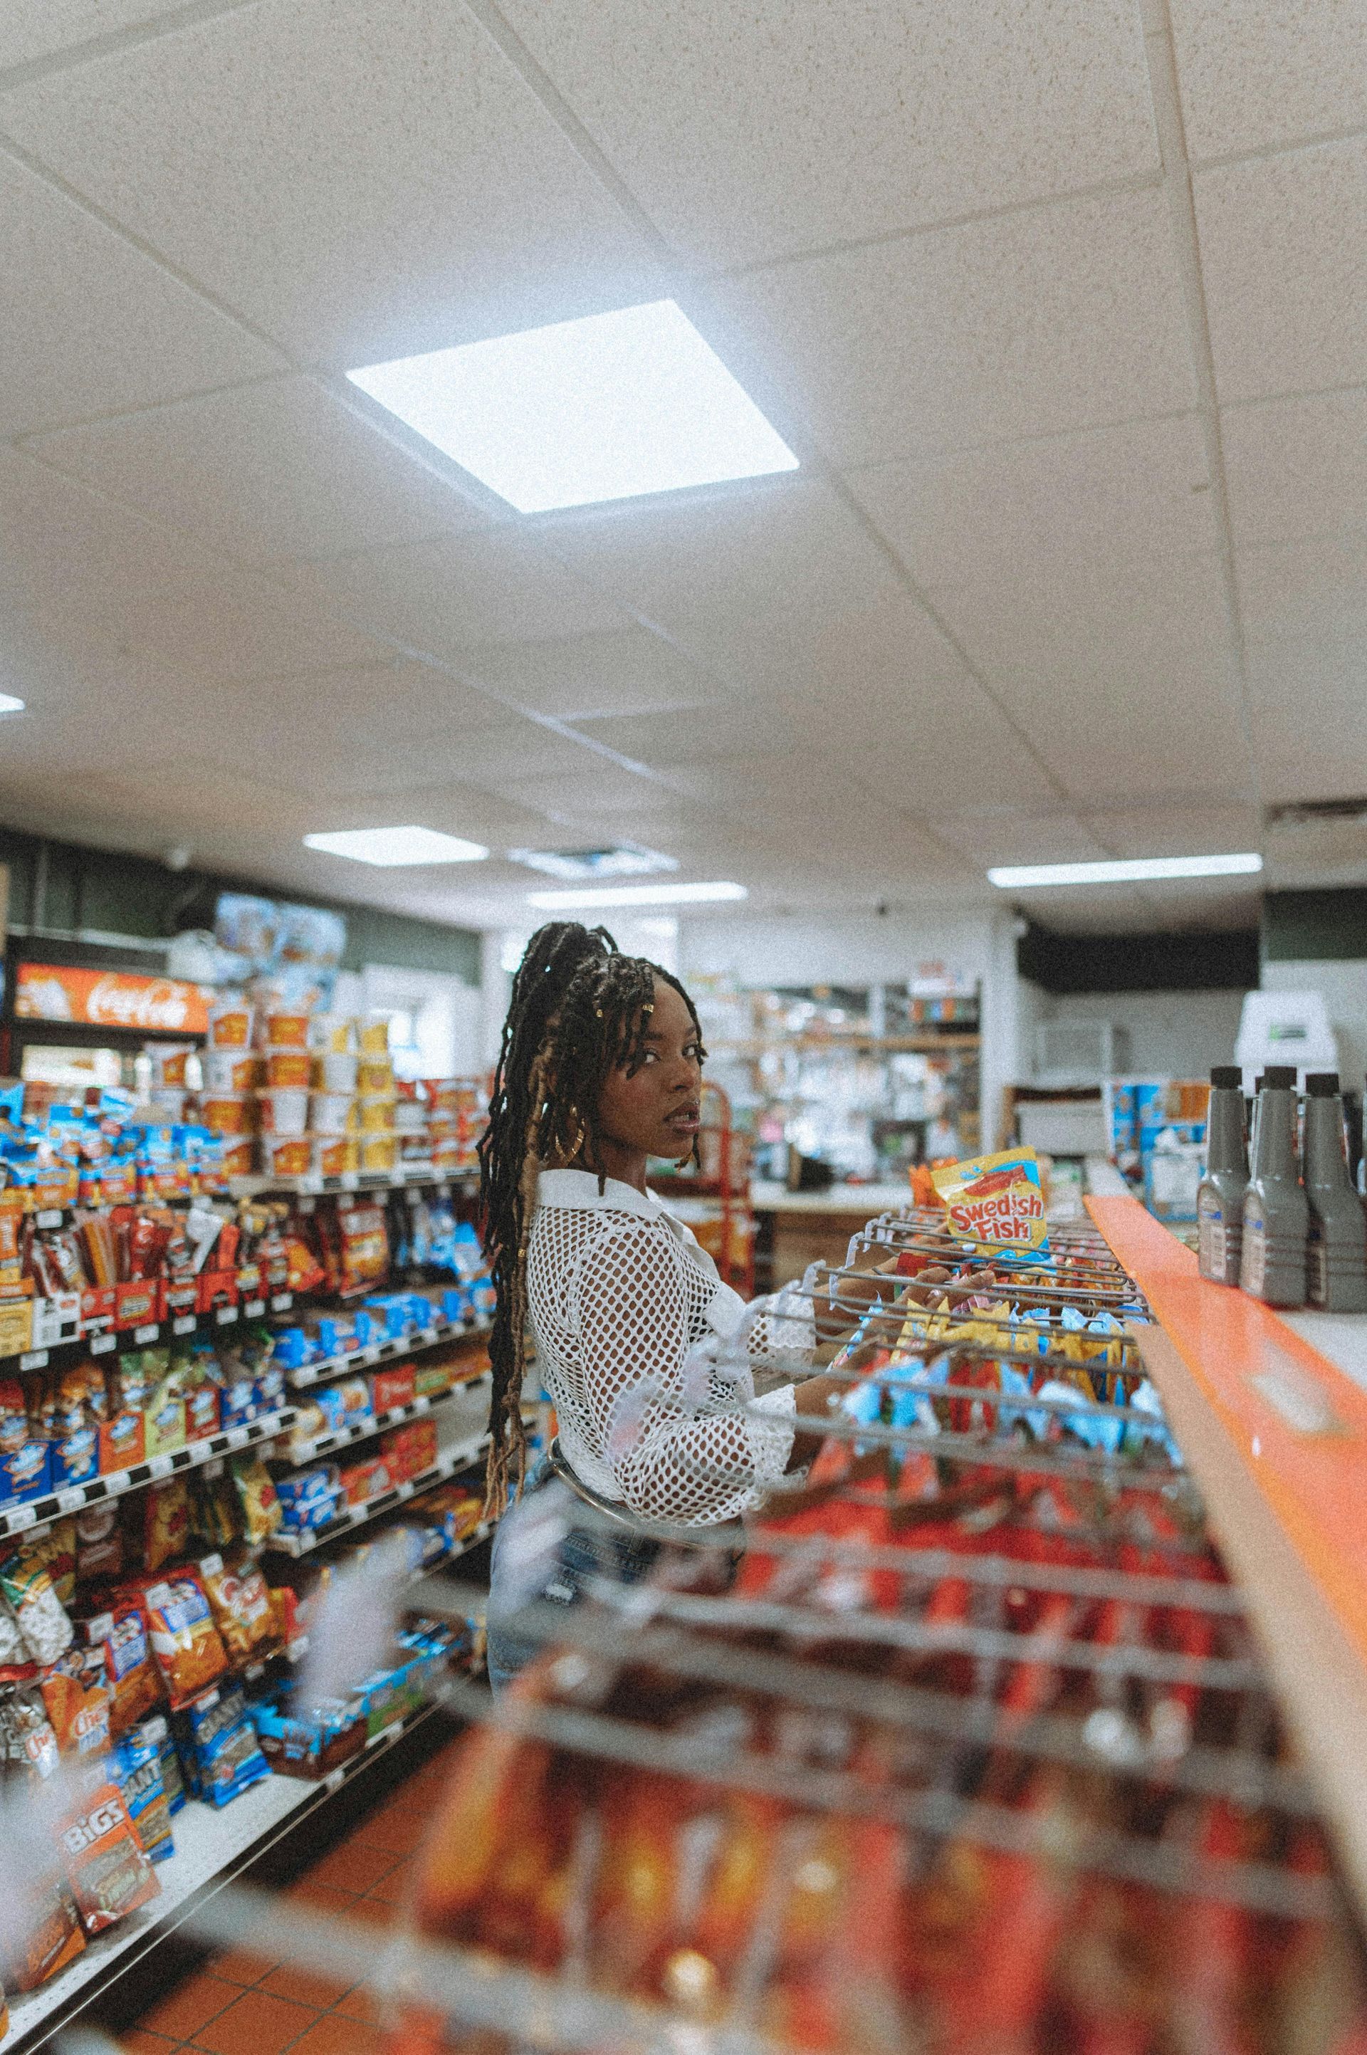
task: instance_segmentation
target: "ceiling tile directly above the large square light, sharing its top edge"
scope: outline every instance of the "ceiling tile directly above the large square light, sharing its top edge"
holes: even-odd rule
[[[660,290],[615,199],[448,0],[234,8],[10,90],[0,129],[312,362]]]

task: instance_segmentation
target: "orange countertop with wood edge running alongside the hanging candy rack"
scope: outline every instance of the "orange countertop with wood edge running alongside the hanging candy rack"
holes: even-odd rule
[[[1087,1210],[1153,1309],[1135,1340],[1367,1905],[1367,1315],[1279,1315],[1139,1200]]]

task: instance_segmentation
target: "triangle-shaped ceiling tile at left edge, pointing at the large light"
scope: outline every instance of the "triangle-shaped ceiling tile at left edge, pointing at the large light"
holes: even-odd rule
[[[0,434],[278,370],[282,358],[0,150]]]

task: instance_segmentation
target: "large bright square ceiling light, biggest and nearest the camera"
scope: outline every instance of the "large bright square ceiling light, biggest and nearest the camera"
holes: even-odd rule
[[[798,469],[674,300],[368,364],[347,378],[518,514]]]

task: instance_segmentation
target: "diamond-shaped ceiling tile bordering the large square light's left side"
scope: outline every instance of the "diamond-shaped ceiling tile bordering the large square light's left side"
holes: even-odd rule
[[[312,378],[206,393],[29,448],[253,565],[487,526],[454,485]]]

